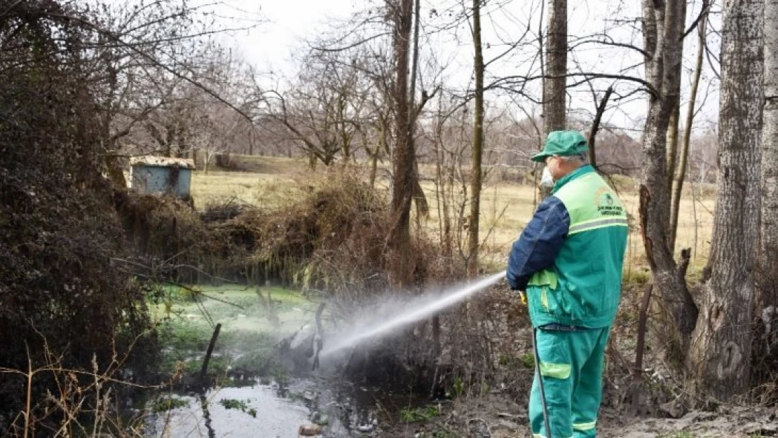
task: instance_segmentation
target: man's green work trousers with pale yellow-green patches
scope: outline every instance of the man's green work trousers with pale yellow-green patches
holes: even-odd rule
[[[611,328],[536,331],[538,363],[551,434],[545,430],[538,373],[530,394],[529,419],[534,438],[597,436],[605,347]]]

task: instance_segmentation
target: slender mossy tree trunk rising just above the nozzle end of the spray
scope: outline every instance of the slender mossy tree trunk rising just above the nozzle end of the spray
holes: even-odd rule
[[[481,216],[481,157],[484,142],[484,57],[481,46],[481,2],[482,0],[473,0],[475,108],[473,109],[473,156],[470,176],[470,223],[468,226],[468,276],[471,278],[478,275],[478,223]]]

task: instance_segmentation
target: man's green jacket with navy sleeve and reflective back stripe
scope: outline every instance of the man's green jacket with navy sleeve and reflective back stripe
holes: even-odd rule
[[[513,244],[507,279],[534,327],[613,323],[629,233],[622,202],[591,166],[557,181]]]

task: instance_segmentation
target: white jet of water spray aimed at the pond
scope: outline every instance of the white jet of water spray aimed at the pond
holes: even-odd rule
[[[373,336],[377,336],[382,333],[392,331],[395,328],[399,328],[405,324],[410,324],[414,321],[424,319],[425,317],[428,317],[429,315],[434,314],[439,310],[443,310],[446,307],[464,300],[468,296],[471,296],[481,289],[492,286],[504,277],[504,271],[498,272],[494,275],[489,275],[489,277],[486,277],[485,279],[481,279],[478,280],[478,282],[465,285],[461,289],[457,289],[448,295],[441,296],[440,299],[434,300],[432,302],[427,302],[429,297],[420,297],[417,300],[412,300],[405,306],[405,308],[409,310],[407,313],[401,312],[396,317],[391,318],[389,321],[378,321],[375,324],[364,327],[362,330],[352,332],[351,335],[347,335],[344,338],[335,341],[335,343],[331,345],[326,345],[324,350],[321,352],[321,356],[328,356],[333,352],[345,349],[351,345],[359,344],[359,342],[363,342],[368,338],[372,338]]]

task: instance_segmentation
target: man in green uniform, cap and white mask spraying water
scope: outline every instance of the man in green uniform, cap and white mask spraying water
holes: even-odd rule
[[[605,346],[619,307],[628,233],[615,192],[586,163],[586,139],[554,131],[532,159],[555,184],[513,244],[507,280],[526,291],[539,373],[530,394],[534,437],[595,436]],[[545,429],[542,379],[550,431]]]

